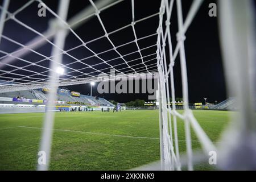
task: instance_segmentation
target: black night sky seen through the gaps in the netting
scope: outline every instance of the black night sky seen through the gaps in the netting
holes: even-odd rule
[[[0,1],[2,4],[2,1]],[[19,1],[11,1],[10,4],[10,12],[14,12],[18,7],[24,4],[23,0]],[[56,12],[57,2],[53,0],[44,1],[53,11]],[[202,6],[200,7],[199,12],[197,13],[195,19],[193,20],[191,26],[188,28],[187,33],[185,34],[185,53],[187,59],[187,71],[188,71],[188,86],[189,86],[189,102],[203,102],[203,98],[208,98],[209,102],[214,101],[222,101],[226,98],[225,91],[225,80],[224,73],[222,68],[222,59],[221,59],[221,51],[220,51],[220,42],[218,37],[218,26],[217,26],[217,18],[208,16],[208,5],[209,3],[216,1],[204,1]],[[183,16],[188,13],[189,7],[191,6],[192,1],[182,1],[183,3]],[[39,32],[43,32],[47,30],[48,20],[53,16],[47,12],[47,17],[39,18],[37,16],[37,7],[38,3],[33,3],[31,6],[27,7],[26,10],[20,12],[16,18],[20,21],[28,24],[32,28]],[[73,15],[78,13],[80,10],[84,9],[84,7],[90,6],[90,3],[85,0],[76,0],[71,1],[71,5],[69,7],[68,19]],[[151,14],[155,14],[159,11],[160,1],[139,1],[135,0],[135,20],[141,19]],[[106,27],[108,32],[116,30],[120,27],[126,26],[131,23],[131,1],[127,0],[119,3],[111,7],[108,10],[102,11],[100,14],[102,22]],[[141,38],[146,35],[154,34],[156,32],[156,28],[158,27],[159,16],[155,16],[143,22],[135,24],[135,30],[137,32],[137,37]],[[90,19],[88,22],[84,23],[81,27],[77,28],[75,32],[80,36],[84,42],[88,42],[89,40],[98,38],[104,35],[104,31],[98,22],[96,16]],[[177,16],[176,16],[176,4],[174,4],[174,11],[171,18],[171,35],[172,35],[172,43],[173,46],[176,46],[176,32],[177,32]],[[13,20],[9,20],[5,24],[5,29],[3,31],[3,35],[10,37],[22,44],[27,43],[28,40],[34,38],[36,34],[27,30],[26,28],[20,26],[18,23]],[[130,42],[134,40],[132,28],[126,28],[125,30],[119,31],[115,34],[109,36],[112,39],[115,46],[124,44],[126,42]],[[156,36],[152,36],[151,38],[144,39],[138,42],[141,48],[151,46],[156,43]],[[69,34],[65,43],[65,50],[70,48],[79,46],[81,42],[72,34]],[[105,51],[107,49],[112,48],[111,44],[108,42],[106,38],[97,40],[96,42],[88,44],[94,52],[99,53]],[[8,42],[5,39],[2,39],[0,44],[0,50],[5,52],[12,52],[19,46],[16,46],[13,43]],[[36,49],[36,51],[44,54],[51,55],[51,44],[45,44],[45,46]],[[137,51],[137,47],[135,44],[131,44],[129,46],[125,46],[119,48],[118,51],[125,55],[126,53]],[[147,49],[146,51],[142,51],[142,55],[146,56],[151,53],[155,53],[156,47]],[[70,55],[76,57],[77,59],[82,59],[84,57],[88,57],[92,55],[90,51],[86,48],[78,48],[74,51],[69,52]],[[2,53],[0,53],[0,57]],[[117,53],[114,51],[110,51],[108,53],[104,53],[100,56],[104,60],[109,60],[114,57],[117,57]],[[127,56],[126,60],[133,60],[139,57],[138,53],[134,53],[133,55]],[[154,58],[148,57],[147,60]],[[42,57],[36,55],[35,53],[30,53],[27,56],[24,56],[23,59],[30,60],[32,62],[38,61],[42,59]],[[0,60],[1,61],[1,60]],[[71,63],[71,57],[65,55],[63,57],[63,63],[68,64]],[[87,59],[86,64],[93,65],[96,63],[100,63],[100,60],[96,57],[92,59]],[[121,59],[117,59],[113,62],[110,61],[110,64],[115,65],[118,63],[123,63]],[[131,67],[139,62],[134,61],[133,64],[130,64]],[[156,63],[156,60],[149,61],[147,64]],[[49,61],[43,61],[40,63],[45,67],[49,67]],[[22,67],[26,65],[22,61],[15,61],[13,65]],[[83,65],[85,66],[85,65]],[[125,68],[127,65],[122,65],[122,67],[117,67],[117,69]],[[81,65],[79,63],[73,64],[72,68],[79,69]],[[105,68],[104,65],[100,65],[99,67],[95,67],[96,69]],[[137,67],[134,67],[137,68]],[[11,68],[5,67],[3,69],[10,70]],[[42,72],[44,69],[40,67],[29,67],[28,69],[34,70],[36,72]],[[67,72],[69,70],[66,70]],[[126,71],[124,69],[123,71]],[[129,69],[127,69],[129,71]],[[85,73],[92,72],[90,68],[83,70]],[[109,70],[108,70],[109,72]],[[20,71],[22,75],[30,75],[31,73],[25,73]],[[74,76],[77,76],[74,73]],[[97,74],[97,73],[96,73]],[[181,74],[180,74],[180,60],[179,56],[175,60],[175,94],[176,97],[182,97],[181,92]],[[48,73],[46,73],[48,75]],[[80,74],[78,74],[80,75]],[[64,76],[65,78],[65,76]],[[4,80],[1,76],[0,79]],[[70,90],[74,90],[77,92],[81,92],[82,94],[90,93],[90,85],[82,84],[82,85],[73,85],[67,86],[66,88]],[[147,100],[147,94],[98,94],[96,90],[96,86],[94,86],[94,96],[104,97],[108,100],[115,100],[119,102],[127,102],[130,100],[135,100],[137,98]]]

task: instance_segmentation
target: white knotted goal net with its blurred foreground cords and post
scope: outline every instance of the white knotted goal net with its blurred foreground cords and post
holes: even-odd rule
[[[220,167],[222,169],[251,169],[256,166],[255,160],[249,160],[247,154],[255,159],[255,115],[253,102],[255,99],[255,35],[254,35],[254,11],[251,1],[226,0],[219,1],[218,21],[222,55],[224,58],[224,68],[226,85],[228,92],[236,96],[240,111],[232,120],[232,127],[228,129],[219,145],[210,141],[204,130],[201,128],[193,112],[188,107],[188,81],[187,66],[185,56],[185,35],[189,31],[197,11],[200,9],[203,0],[192,1],[191,7],[184,17],[181,0],[160,1],[159,11],[147,14],[142,18],[136,18],[136,1],[130,2],[130,22],[125,26],[109,31],[104,22],[104,11],[110,11],[114,6],[119,6],[124,0],[89,0],[89,6],[81,10],[75,16],[68,18],[68,10],[71,3],[75,1],[59,1],[57,10],[52,10],[42,0],[30,0],[24,3],[15,11],[9,10],[9,0],[4,0],[0,6],[0,41],[10,43],[13,48],[0,49],[0,93],[16,90],[28,90],[37,88],[49,88],[49,101],[47,107],[50,110],[55,107],[56,92],[58,86],[85,84],[98,81],[97,76],[104,74],[113,77],[112,71],[118,76],[126,77],[130,73],[137,75],[147,73],[158,77],[158,101],[159,101],[159,126],[160,126],[160,166],[162,170],[181,170],[186,166],[188,170],[193,170],[193,165],[205,157],[209,152],[214,151],[222,156]],[[146,3],[154,3],[145,2]],[[43,7],[47,14],[51,14],[48,20],[48,28],[42,30],[34,28],[31,24],[26,24],[19,19],[19,14],[27,11],[30,6]],[[176,11],[174,11],[174,9]],[[172,31],[171,16],[176,12],[178,31]],[[115,15],[118,16],[118,15]],[[84,40],[77,34],[76,29],[82,24],[86,24],[94,18],[101,28],[103,34],[92,40]],[[151,18],[158,18],[157,30],[152,30],[151,34],[141,33],[138,35],[137,24],[146,22]],[[113,19],[114,21],[114,19]],[[30,31],[33,36],[29,41],[19,42],[14,38],[5,35],[3,32],[6,24],[14,23],[22,30]],[[15,30],[15,26],[13,27]],[[126,28],[131,29],[130,41],[116,44],[112,36]],[[40,30],[39,30],[40,29]],[[17,34],[22,34],[17,29]],[[176,35],[176,40],[172,40],[172,34]],[[67,36],[72,35],[78,42],[76,46],[65,49]],[[155,42],[147,44],[147,39],[154,38]],[[200,39],[200,38],[199,38]],[[92,48],[95,42],[105,41],[110,45],[105,51],[98,52]],[[143,47],[141,42],[145,42]],[[175,43],[175,44],[174,44]],[[119,51],[122,47],[133,44],[135,49],[123,53]],[[147,44],[146,46],[144,46]],[[175,45],[175,46],[173,46]],[[195,43],[196,45],[196,43]],[[11,46],[9,46],[11,47]],[[51,55],[46,55],[37,51],[40,47],[51,48]],[[89,56],[78,57],[72,52],[79,49],[86,49]],[[152,49],[153,48],[153,49]],[[147,51],[147,55],[143,51]],[[36,60],[30,60],[29,54],[36,56]],[[115,55],[110,59],[105,59],[103,55]],[[129,59],[130,55],[137,54],[135,59]],[[183,113],[177,112],[175,107],[175,60],[179,57],[181,67],[181,84],[183,94]],[[90,61],[91,59],[97,61]],[[63,61],[65,60],[65,61]],[[68,61],[66,61],[68,60]],[[136,64],[134,64],[134,61]],[[20,65],[15,63],[20,63]],[[48,63],[48,64],[42,64]],[[63,72],[65,70],[65,72]],[[61,73],[61,74],[60,74]],[[170,100],[172,98],[172,100]],[[185,144],[187,154],[180,155],[179,138],[177,132],[177,118],[184,122]],[[51,142],[54,123],[54,113],[47,111],[44,118],[44,127],[40,151],[46,151],[48,156],[46,165],[38,165],[39,170],[47,170],[51,154]],[[204,155],[193,154],[191,130],[201,143]],[[230,137],[232,136],[232,137]],[[232,138],[232,139],[230,139]],[[224,144],[225,143],[225,144]],[[228,145],[226,144],[228,143]],[[238,146],[243,143],[245,150]],[[254,151],[254,152],[253,152]],[[236,156],[242,156],[239,162],[233,162]],[[185,163],[183,160],[185,159]],[[156,168],[155,168],[156,169]]]

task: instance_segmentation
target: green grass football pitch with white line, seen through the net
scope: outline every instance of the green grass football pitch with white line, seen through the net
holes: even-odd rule
[[[182,112],[182,111],[180,111]],[[214,142],[229,111],[194,110]],[[0,170],[35,170],[44,113],[0,114]],[[160,159],[158,110],[56,113],[50,170],[126,170]],[[183,121],[177,121],[185,154]],[[192,130],[191,130],[192,131]],[[192,132],[193,149],[200,142]],[[211,169],[209,164],[195,169]]]

